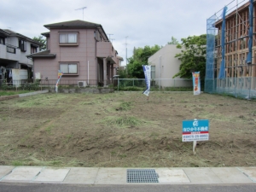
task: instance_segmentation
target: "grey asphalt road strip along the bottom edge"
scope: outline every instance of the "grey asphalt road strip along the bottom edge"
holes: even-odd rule
[[[75,185],[52,183],[0,183],[0,192],[256,192],[253,184],[223,185]]]

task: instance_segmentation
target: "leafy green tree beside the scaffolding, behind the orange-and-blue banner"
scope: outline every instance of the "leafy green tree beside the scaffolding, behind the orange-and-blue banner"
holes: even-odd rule
[[[177,44],[178,49],[184,48],[180,54],[175,55],[180,61],[179,72],[173,78],[179,76],[191,79],[191,72],[200,72],[201,79],[206,74],[207,35],[182,38],[182,43]]]

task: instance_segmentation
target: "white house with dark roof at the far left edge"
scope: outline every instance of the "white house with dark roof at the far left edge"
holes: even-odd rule
[[[12,69],[25,69],[31,74],[28,78],[32,78],[33,63],[26,55],[38,52],[40,45],[18,32],[0,29],[0,80],[11,82]]]

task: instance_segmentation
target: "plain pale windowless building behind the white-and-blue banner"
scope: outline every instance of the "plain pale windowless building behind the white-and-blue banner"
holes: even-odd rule
[[[176,46],[176,44],[166,44],[165,47],[148,58],[148,65],[151,66],[151,79],[156,79],[155,83],[160,86],[177,87],[192,85],[190,79],[172,79],[179,72],[181,64],[181,61],[175,55],[183,50],[177,49]]]

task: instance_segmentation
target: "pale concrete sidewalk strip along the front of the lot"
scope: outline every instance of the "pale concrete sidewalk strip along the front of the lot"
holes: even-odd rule
[[[79,184],[256,184],[256,167],[148,168],[150,170],[153,169],[157,173],[159,183],[127,183],[127,169],[135,168],[0,166],[0,182]]]

